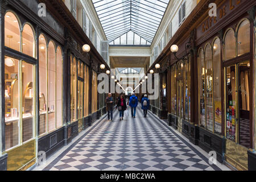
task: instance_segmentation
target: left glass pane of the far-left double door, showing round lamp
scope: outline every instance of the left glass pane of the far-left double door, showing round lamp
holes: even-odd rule
[[[19,144],[19,60],[5,56],[5,149]]]

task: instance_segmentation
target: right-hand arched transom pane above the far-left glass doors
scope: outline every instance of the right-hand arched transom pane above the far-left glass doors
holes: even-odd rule
[[[31,26],[25,24],[22,31],[22,52],[28,56],[35,56],[34,31]]]

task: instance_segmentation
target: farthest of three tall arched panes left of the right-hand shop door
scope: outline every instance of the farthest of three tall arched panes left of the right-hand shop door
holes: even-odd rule
[[[200,126],[205,127],[205,63],[202,48],[199,50],[197,63],[199,63],[199,118]]]

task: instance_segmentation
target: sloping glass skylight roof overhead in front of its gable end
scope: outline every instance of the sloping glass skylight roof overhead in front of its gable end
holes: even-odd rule
[[[151,43],[170,0],[92,0],[109,42],[133,31]]]

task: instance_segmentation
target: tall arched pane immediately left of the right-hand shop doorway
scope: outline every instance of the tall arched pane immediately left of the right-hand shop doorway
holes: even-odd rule
[[[214,132],[221,133],[221,50],[220,39],[213,42]]]

